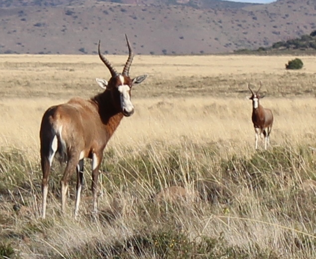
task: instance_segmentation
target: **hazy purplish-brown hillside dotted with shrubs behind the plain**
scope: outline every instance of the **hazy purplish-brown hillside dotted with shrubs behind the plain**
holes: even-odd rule
[[[315,0],[0,0],[0,53],[178,55],[269,47],[316,29]]]

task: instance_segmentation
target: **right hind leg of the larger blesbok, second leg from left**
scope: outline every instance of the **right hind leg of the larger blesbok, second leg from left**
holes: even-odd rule
[[[68,191],[68,181],[72,173],[76,170],[76,166],[79,161],[79,154],[68,155],[67,166],[63,178],[61,179],[61,210],[62,213],[66,212],[66,197]]]

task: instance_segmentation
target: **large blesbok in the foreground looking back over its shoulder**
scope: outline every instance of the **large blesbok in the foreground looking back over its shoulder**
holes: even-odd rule
[[[83,184],[84,158],[92,159],[93,211],[98,212],[97,186],[99,167],[105,146],[123,116],[134,112],[131,102],[131,88],[143,82],[147,75],[131,79],[129,69],[134,57],[125,34],[129,50],[122,74],[117,73],[111,63],[100,52],[99,57],[111,73],[107,82],[96,79],[104,91],[91,99],[75,97],[68,102],[52,106],[43,115],[40,128],[42,180],[42,218],[46,216],[48,178],[55,154],[67,162],[61,179],[61,209],[65,212],[68,180],[77,170],[77,193],[74,216],[77,218],[80,193]]]

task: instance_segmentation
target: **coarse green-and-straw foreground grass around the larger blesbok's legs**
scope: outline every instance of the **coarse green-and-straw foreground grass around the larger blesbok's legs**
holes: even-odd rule
[[[62,216],[61,168],[54,164],[42,221],[39,161],[28,160],[22,150],[2,151],[0,240],[10,244],[2,246],[3,253],[10,247],[16,251],[5,257],[315,258],[313,149],[292,145],[223,153],[220,145],[188,140],[153,142],[143,150],[108,149],[99,218],[91,211],[86,163],[79,221],[71,212],[75,173]],[[170,186],[186,192],[168,199],[159,194]]]

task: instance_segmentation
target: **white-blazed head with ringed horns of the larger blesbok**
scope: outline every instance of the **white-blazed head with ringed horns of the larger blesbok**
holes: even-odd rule
[[[99,57],[111,73],[111,78],[108,82],[104,79],[96,80],[99,86],[105,89],[105,91],[111,91],[114,105],[117,107],[119,111],[123,113],[124,116],[128,117],[134,113],[134,106],[131,102],[132,86],[142,83],[147,78],[147,75],[138,76],[133,79],[129,77],[129,69],[134,58],[134,53],[126,34],[125,38],[128,46],[129,55],[123,68],[123,72],[121,74],[118,73],[115,70],[115,68],[111,65],[111,63],[105,58],[105,56],[102,55],[100,51],[99,41]]]

